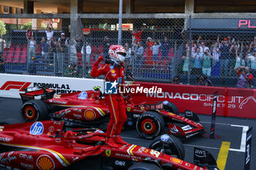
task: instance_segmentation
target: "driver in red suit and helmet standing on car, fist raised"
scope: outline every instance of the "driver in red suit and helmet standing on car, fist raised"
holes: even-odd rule
[[[95,61],[91,69],[91,77],[99,77],[104,75],[107,82],[118,82],[124,84],[124,59],[127,55],[124,47],[121,45],[111,45],[108,51],[110,61],[99,66],[99,62],[104,58],[100,56]],[[118,144],[127,144],[120,136],[121,128],[127,120],[127,115],[124,106],[124,98],[121,93],[105,94],[105,99],[110,109],[110,122],[108,124],[106,144],[110,147],[118,147]]]

